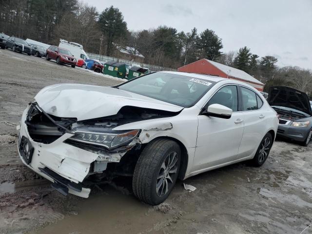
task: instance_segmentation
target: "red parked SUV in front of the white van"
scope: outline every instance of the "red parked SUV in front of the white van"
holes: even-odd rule
[[[77,59],[74,58],[68,49],[60,48],[55,45],[51,45],[47,49],[46,59],[53,59],[56,60],[58,64],[68,64],[73,68],[76,67],[77,64]]]

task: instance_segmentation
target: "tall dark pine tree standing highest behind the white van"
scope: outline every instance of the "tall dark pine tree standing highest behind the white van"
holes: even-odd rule
[[[106,55],[112,54],[113,42],[121,38],[122,35],[127,33],[127,23],[123,20],[122,13],[118,8],[111,6],[106,8],[99,15],[98,22],[106,38]]]

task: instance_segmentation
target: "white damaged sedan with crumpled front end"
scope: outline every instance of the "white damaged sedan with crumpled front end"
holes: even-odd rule
[[[63,195],[88,197],[98,181],[133,176],[134,195],[155,205],[178,178],[243,160],[261,166],[277,127],[248,84],[157,72],[114,87],[43,88],[22,115],[19,154]]]

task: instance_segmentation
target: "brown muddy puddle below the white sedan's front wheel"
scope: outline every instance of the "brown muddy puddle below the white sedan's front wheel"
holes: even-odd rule
[[[76,209],[74,215],[66,216],[35,233],[162,233],[159,229],[168,218],[172,218],[172,215],[155,211],[132,195],[122,195],[107,186],[104,193],[91,195],[78,203]]]

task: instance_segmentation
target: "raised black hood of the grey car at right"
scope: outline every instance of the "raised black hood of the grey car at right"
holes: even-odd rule
[[[271,106],[284,106],[312,116],[309,97],[306,93],[286,86],[272,86],[268,102]]]

